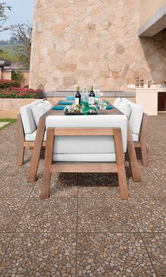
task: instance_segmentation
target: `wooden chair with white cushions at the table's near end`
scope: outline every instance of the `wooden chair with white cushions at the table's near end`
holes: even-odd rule
[[[120,198],[128,198],[127,116],[47,116],[46,132],[41,199],[49,197],[54,172],[115,172]]]

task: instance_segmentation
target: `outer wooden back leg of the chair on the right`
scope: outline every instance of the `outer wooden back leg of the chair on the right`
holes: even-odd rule
[[[148,166],[148,157],[147,157],[147,151],[146,151],[146,125],[147,125],[147,114],[143,113],[141,132],[140,132],[141,162],[143,166]]]

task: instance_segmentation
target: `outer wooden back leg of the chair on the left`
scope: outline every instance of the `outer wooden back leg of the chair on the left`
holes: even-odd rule
[[[25,139],[24,139],[23,124],[22,124],[21,116],[20,114],[18,114],[18,159],[17,159],[18,166],[23,165],[24,154],[25,154]]]

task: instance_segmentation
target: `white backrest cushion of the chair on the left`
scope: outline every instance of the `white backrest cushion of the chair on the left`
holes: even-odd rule
[[[43,99],[34,101],[34,103],[41,103],[42,101],[44,101]],[[20,115],[22,118],[22,122],[23,122],[23,128],[24,128],[24,133],[26,134],[31,134],[34,132],[34,130],[36,130],[37,126],[34,122],[34,118],[32,115],[32,104],[28,104],[26,106],[22,106],[20,108]]]

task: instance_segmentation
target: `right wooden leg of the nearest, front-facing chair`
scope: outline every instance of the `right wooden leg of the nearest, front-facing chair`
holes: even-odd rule
[[[120,198],[128,199],[127,179],[126,179],[126,172],[125,172],[125,160],[124,160],[124,152],[123,152],[123,146],[122,146],[121,130],[119,128],[113,129],[113,133],[114,133],[114,141],[115,141],[115,153],[116,153]]]

